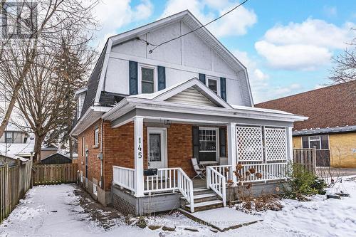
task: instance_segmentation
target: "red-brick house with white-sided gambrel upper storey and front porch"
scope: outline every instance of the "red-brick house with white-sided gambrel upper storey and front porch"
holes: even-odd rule
[[[293,122],[306,117],[253,107],[246,68],[200,27],[182,11],[108,38],[75,93],[78,178],[100,203],[138,215],[177,209],[183,196],[194,212],[226,206],[227,181],[286,179]],[[206,180],[192,180],[192,158]]]

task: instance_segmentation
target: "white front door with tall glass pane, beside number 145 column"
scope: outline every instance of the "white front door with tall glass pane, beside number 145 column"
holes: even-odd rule
[[[167,167],[167,129],[147,128],[148,169]]]

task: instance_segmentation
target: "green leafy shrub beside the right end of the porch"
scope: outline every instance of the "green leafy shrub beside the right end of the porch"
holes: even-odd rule
[[[325,194],[323,179],[318,179],[301,164],[293,164],[289,169],[289,181],[283,184],[284,197],[288,199],[308,200],[307,196]]]

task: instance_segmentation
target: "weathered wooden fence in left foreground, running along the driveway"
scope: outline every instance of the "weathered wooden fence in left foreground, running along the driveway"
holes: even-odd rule
[[[32,161],[0,167],[0,222],[14,210],[31,187]]]

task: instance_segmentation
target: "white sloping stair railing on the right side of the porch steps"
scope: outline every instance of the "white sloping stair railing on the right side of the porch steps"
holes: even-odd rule
[[[224,206],[226,206],[226,178],[216,170],[220,168],[223,167],[206,167],[206,186],[218,194],[223,199]]]

